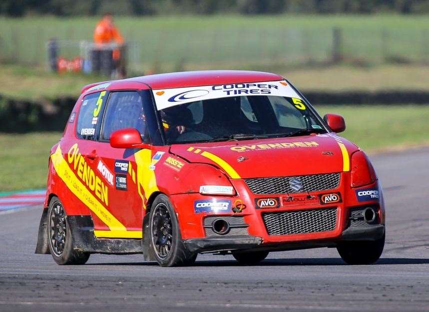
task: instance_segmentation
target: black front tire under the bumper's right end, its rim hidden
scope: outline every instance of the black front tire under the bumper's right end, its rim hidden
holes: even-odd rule
[[[375,241],[348,242],[337,247],[343,261],[349,265],[370,265],[380,259],[385,246],[385,238]]]

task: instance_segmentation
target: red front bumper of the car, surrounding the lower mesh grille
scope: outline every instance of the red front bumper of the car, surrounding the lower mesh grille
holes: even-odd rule
[[[356,189],[350,187],[350,174],[342,173],[341,183],[337,189],[313,192],[309,195],[319,196],[322,193],[341,193],[342,201],[336,204],[297,204],[281,207],[261,209],[256,207],[256,201],[260,197],[270,198],[284,195],[255,195],[247,188],[243,180],[232,180],[234,188],[237,190],[236,196],[204,196],[201,194],[188,193],[173,195],[173,203],[178,212],[182,239],[193,251],[207,252],[219,250],[295,250],[316,247],[336,247],[343,241],[371,241],[381,238],[385,233],[385,209],[380,189],[380,199],[359,201],[356,196]],[[378,181],[372,185],[362,188],[380,188]],[[240,212],[196,212],[195,203],[202,200],[230,201],[231,206],[237,203],[243,204],[246,208]],[[377,210],[377,224],[353,224],[351,219],[352,211],[374,207]],[[325,231],[298,232],[287,234],[270,234],[267,228],[264,214],[311,211],[320,209],[337,209],[337,219],[335,227],[330,227]],[[211,218],[231,218],[236,220],[237,228],[231,229],[226,235],[216,235],[213,233],[210,222]],[[231,227],[232,228],[232,227]]]

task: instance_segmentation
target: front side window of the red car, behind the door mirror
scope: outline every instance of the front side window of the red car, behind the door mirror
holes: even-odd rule
[[[110,94],[104,113],[100,140],[108,141],[112,132],[124,128],[137,129],[143,142],[149,142],[141,96],[136,91],[112,92]]]

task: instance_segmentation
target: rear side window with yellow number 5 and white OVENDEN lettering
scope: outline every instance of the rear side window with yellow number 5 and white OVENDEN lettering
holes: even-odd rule
[[[76,136],[80,139],[93,140],[95,128],[101,107],[105,102],[106,91],[88,94],[83,98],[80,105],[79,117],[77,118]]]

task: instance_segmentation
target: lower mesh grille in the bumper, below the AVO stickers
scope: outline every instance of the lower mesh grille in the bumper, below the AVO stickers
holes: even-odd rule
[[[269,235],[307,234],[333,231],[337,208],[263,213]]]

